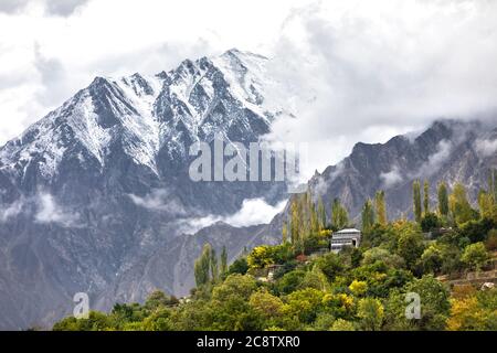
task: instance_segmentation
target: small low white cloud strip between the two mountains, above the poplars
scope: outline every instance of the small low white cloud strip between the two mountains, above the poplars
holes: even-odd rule
[[[286,203],[287,201],[284,200],[273,206],[266,203],[264,199],[246,199],[243,201],[242,208],[229,216],[208,215],[194,220],[182,220],[181,232],[189,234],[195,233],[216,222],[224,222],[235,227],[266,224],[285,208]]]

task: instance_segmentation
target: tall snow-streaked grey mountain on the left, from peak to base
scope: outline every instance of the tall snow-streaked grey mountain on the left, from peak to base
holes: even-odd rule
[[[267,61],[232,50],[151,77],[97,77],[0,149],[0,329],[50,324],[81,291],[99,310],[152,287],[188,293],[178,254],[150,269],[158,249],[188,253],[180,235],[195,217],[285,197],[283,183],[188,175],[191,143],[257,141],[284,114],[265,99]]]

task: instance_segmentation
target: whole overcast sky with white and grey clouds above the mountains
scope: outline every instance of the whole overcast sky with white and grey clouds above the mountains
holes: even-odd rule
[[[0,143],[96,75],[237,47],[274,58],[297,119],[272,137],[313,141],[321,170],[359,140],[491,115],[496,43],[490,0],[0,0]]]

